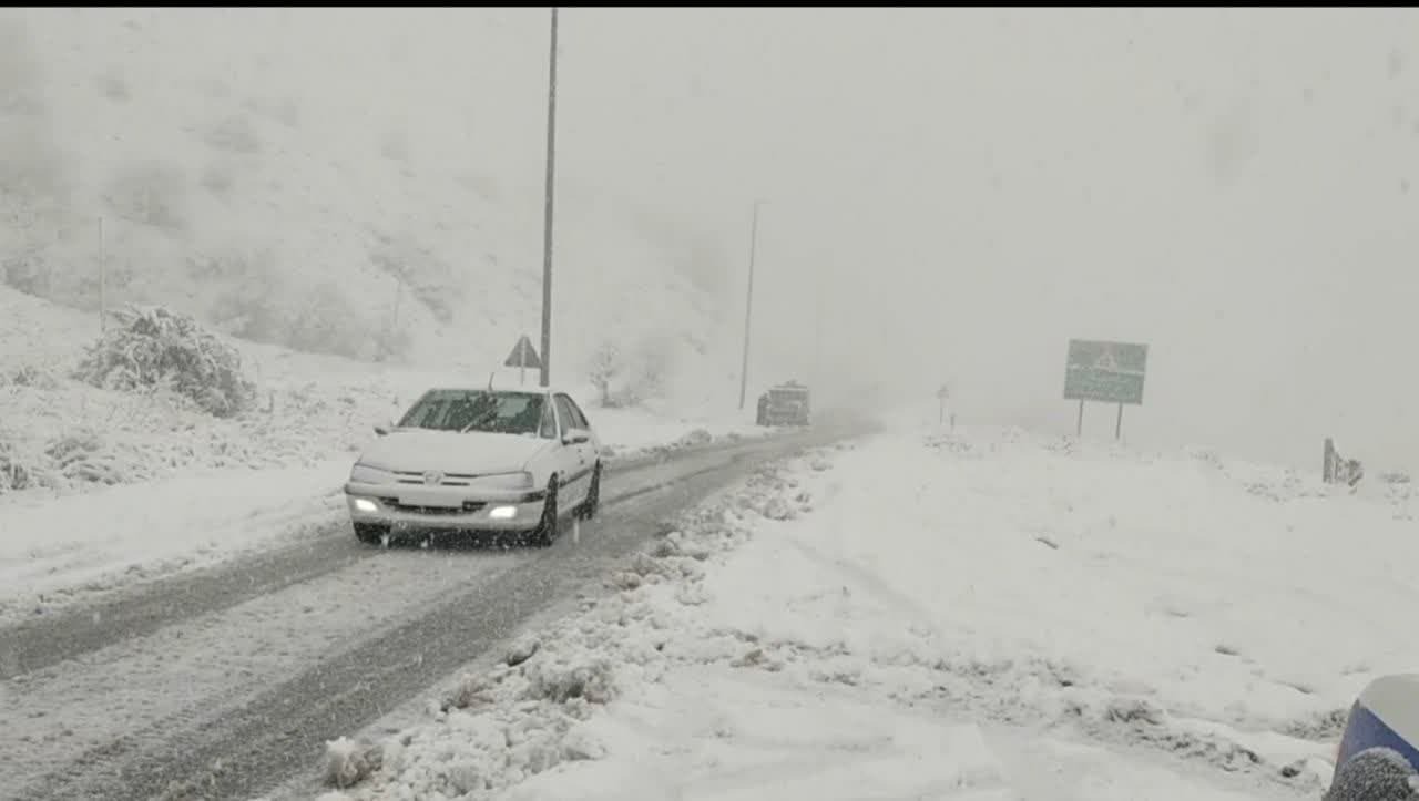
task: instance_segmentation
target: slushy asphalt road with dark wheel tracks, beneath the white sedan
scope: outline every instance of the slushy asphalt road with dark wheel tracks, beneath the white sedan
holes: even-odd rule
[[[853,424],[609,466],[548,549],[363,546],[348,526],[0,629],[0,798],[251,798],[573,598],[684,508]]]

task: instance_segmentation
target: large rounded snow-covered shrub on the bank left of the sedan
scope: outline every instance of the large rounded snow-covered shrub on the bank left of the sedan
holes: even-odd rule
[[[163,306],[128,306],[114,322],[84,354],[79,380],[128,391],[169,387],[216,417],[236,415],[255,400],[241,353],[193,318]]]

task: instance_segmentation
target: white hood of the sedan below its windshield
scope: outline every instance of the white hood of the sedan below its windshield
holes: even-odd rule
[[[517,434],[394,430],[365,448],[359,461],[400,472],[514,472],[549,444]]]

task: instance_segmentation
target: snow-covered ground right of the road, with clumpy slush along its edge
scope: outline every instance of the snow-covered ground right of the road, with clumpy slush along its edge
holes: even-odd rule
[[[1419,661],[1409,503],[1013,430],[820,451],[333,743],[369,775],[328,798],[1315,798]]]

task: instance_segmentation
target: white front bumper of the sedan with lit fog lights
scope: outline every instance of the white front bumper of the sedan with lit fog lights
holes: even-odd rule
[[[542,519],[545,491],[490,492],[467,486],[345,485],[355,523],[392,529],[525,532]]]

